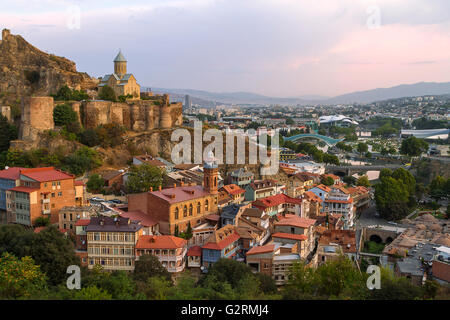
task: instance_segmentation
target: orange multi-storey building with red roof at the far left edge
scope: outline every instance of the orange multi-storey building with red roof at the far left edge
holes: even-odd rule
[[[53,167],[21,169],[19,185],[6,191],[7,223],[33,226],[39,217],[58,223],[63,207],[84,204],[84,186]]]

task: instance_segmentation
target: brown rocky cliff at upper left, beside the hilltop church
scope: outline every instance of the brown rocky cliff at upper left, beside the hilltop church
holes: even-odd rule
[[[77,72],[63,57],[42,52],[20,35],[2,31],[0,41],[0,104],[18,104],[31,95],[46,96],[67,85],[72,89],[93,89],[96,79]]]

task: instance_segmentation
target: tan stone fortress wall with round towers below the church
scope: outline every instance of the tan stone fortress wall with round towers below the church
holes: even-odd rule
[[[30,97],[22,103],[19,139],[33,141],[40,132],[54,129],[53,109],[64,102],[52,97]],[[148,97],[148,100],[111,102],[92,100],[69,102],[84,128],[115,123],[127,130],[143,132],[168,129],[183,122],[182,103],[170,103],[169,95]]]

